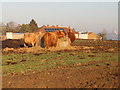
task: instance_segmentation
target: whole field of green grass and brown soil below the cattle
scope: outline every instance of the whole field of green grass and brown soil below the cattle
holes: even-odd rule
[[[117,88],[119,41],[76,40],[74,49],[3,50],[4,88]]]

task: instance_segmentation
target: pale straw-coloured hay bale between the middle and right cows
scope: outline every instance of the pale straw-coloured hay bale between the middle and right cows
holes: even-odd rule
[[[60,48],[69,47],[70,44],[71,44],[70,38],[63,37],[58,39],[57,47],[60,47]]]

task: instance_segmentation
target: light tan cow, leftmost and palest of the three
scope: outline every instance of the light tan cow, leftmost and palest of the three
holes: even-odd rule
[[[41,32],[35,32],[35,33],[25,33],[24,34],[24,47],[32,45],[35,46],[36,45],[36,41],[39,38],[39,36],[41,35]]]

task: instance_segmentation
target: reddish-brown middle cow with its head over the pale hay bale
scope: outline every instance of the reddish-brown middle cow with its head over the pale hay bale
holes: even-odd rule
[[[51,46],[56,47],[58,38],[64,37],[65,33],[61,30],[56,30],[55,32],[46,32],[44,37],[44,47],[49,48]]]

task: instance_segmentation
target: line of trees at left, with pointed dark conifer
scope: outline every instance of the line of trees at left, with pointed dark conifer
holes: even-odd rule
[[[0,24],[0,32],[14,32],[14,33],[25,33],[25,32],[34,32],[38,30],[38,25],[34,19],[30,21],[28,24],[19,25],[13,21],[8,22],[6,25],[4,23]]]

